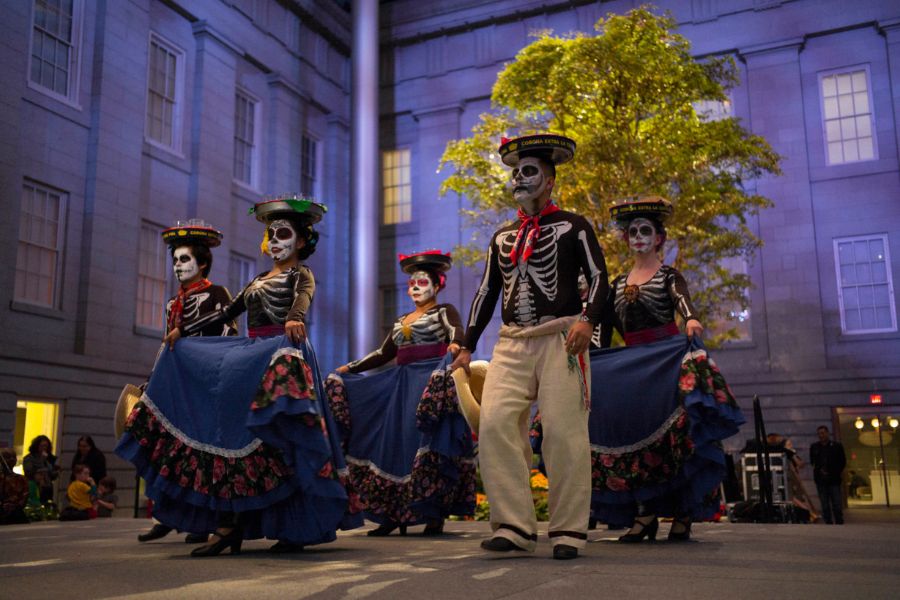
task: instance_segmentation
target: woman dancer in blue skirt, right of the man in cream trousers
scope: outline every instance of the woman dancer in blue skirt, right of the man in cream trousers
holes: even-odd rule
[[[672,205],[650,197],[610,212],[624,229],[634,265],[610,285],[604,328],[603,345],[612,325],[627,347],[591,358],[594,381],[606,383],[597,386],[589,421],[592,516],[630,523],[621,542],[653,540],[658,517],[672,517],[668,539],[686,541],[692,520],[719,507],[720,440],[737,433],[744,418],[699,341],[703,326],[684,278],[659,259]]]

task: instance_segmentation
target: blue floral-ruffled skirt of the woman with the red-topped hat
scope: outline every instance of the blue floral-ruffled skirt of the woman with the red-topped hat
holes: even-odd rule
[[[415,525],[474,514],[474,444],[450,361],[447,355],[326,380],[367,519]]]

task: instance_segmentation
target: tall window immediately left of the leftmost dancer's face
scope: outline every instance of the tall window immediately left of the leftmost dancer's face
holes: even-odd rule
[[[141,223],[138,244],[138,327],[161,330],[165,328],[166,278],[169,273],[169,255],[163,244],[162,227]]]

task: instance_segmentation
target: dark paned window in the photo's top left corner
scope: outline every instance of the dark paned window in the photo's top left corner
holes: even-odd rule
[[[31,31],[31,82],[75,99],[81,0],[35,0]]]

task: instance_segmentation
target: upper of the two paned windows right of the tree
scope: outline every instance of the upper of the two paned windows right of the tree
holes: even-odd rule
[[[819,82],[828,164],[877,158],[868,71],[822,75]]]

